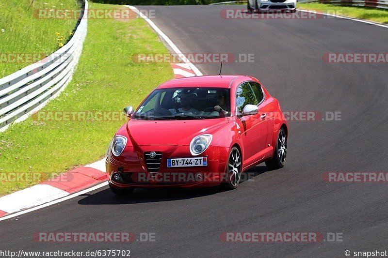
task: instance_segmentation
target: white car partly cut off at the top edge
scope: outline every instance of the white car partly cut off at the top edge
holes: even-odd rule
[[[296,0],[248,0],[248,11],[276,11],[288,10],[295,12]]]

